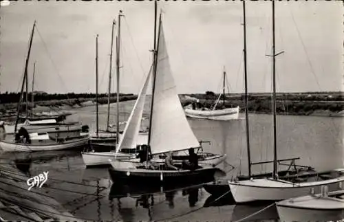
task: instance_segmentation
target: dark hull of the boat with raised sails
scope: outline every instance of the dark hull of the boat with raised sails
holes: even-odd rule
[[[111,180],[126,181],[140,184],[178,184],[194,183],[199,181],[212,181],[217,168],[200,168],[191,170],[147,170],[147,169],[114,169],[109,168]]]

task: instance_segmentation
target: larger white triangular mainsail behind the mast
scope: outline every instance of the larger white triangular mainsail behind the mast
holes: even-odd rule
[[[200,144],[193,134],[172,76],[164,32],[160,25],[158,61],[151,120],[151,153],[181,151]]]

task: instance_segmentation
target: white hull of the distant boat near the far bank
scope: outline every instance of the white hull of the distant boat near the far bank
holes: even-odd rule
[[[237,120],[239,118],[239,107],[219,110],[193,110],[185,109],[189,118],[201,120]]]

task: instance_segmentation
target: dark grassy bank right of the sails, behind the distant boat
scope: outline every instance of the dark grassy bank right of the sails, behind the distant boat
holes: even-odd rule
[[[211,108],[219,94],[207,92],[183,96],[183,105],[191,104],[191,98],[195,98],[200,100],[204,107]],[[277,93],[276,98],[276,110],[281,115],[343,116],[344,114],[344,99],[341,92]],[[226,95],[225,107],[239,106],[241,111],[244,111],[244,100],[245,96],[242,94]],[[250,113],[272,113],[271,95],[268,93],[251,93],[248,96],[248,111]]]

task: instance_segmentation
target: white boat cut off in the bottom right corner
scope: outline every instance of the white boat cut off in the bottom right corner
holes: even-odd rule
[[[286,199],[276,206],[282,222],[339,221],[344,219],[344,190],[327,192],[323,186],[320,194]]]

